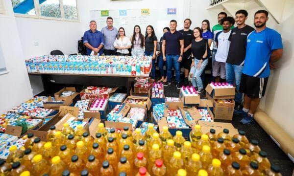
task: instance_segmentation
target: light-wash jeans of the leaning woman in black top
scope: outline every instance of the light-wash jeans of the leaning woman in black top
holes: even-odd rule
[[[202,64],[200,69],[197,68],[197,64],[199,63],[200,60],[198,59],[194,59],[194,67],[191,68],[191,73],[193,73],[193,77],[192,77],[192,85],[195,88],[198,88],[198,90],[203,90],[203,83],[202,83],[202,79],[201,79],[201,74],[203,73],[206,65],[208,64],[208,60],[205,59]]]

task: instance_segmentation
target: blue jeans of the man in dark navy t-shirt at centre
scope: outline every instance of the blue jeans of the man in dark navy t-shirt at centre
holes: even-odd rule
[[[180,57],[180,55],[170,55],[170,54],[168,54],[166,56],[167,65],[168,65],[167,76],[168,76],[168,81],[169,82],[172,79],[172,67],[175,70],[175,81],[176,81],[176,83],[181,82],[181,76],[180,76],[180,65],[181,65],[181,63],[177,61],[179,59],[179,57]]]

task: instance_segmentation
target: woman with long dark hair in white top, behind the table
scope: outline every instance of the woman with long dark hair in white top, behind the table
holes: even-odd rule
[[[134,26],[131,36],[132,56],[144,56],[144,35],[141,33],[139,25]]]

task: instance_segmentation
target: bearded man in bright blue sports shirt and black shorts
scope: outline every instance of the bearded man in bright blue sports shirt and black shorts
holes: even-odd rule
[[[244,93],[243,119],[241,123],[250,124],[253,114],[265,95],[270,68],[283,55],[281,35],[266,26],[269,12],[259,10],[254,15],[256,29],[247,37],[245,64],[241,76],[240,92]]]

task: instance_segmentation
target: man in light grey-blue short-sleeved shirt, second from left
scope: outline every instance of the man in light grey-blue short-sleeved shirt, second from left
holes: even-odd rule
[[[118,29],[113,27],[113,19],[107,17],[106,19],[107,26],[101,29],[101,32],[104,37],[104,48],[103,52],[105,55],[116,55],[116,49],[114,47],[114,41],[118,36]]]

